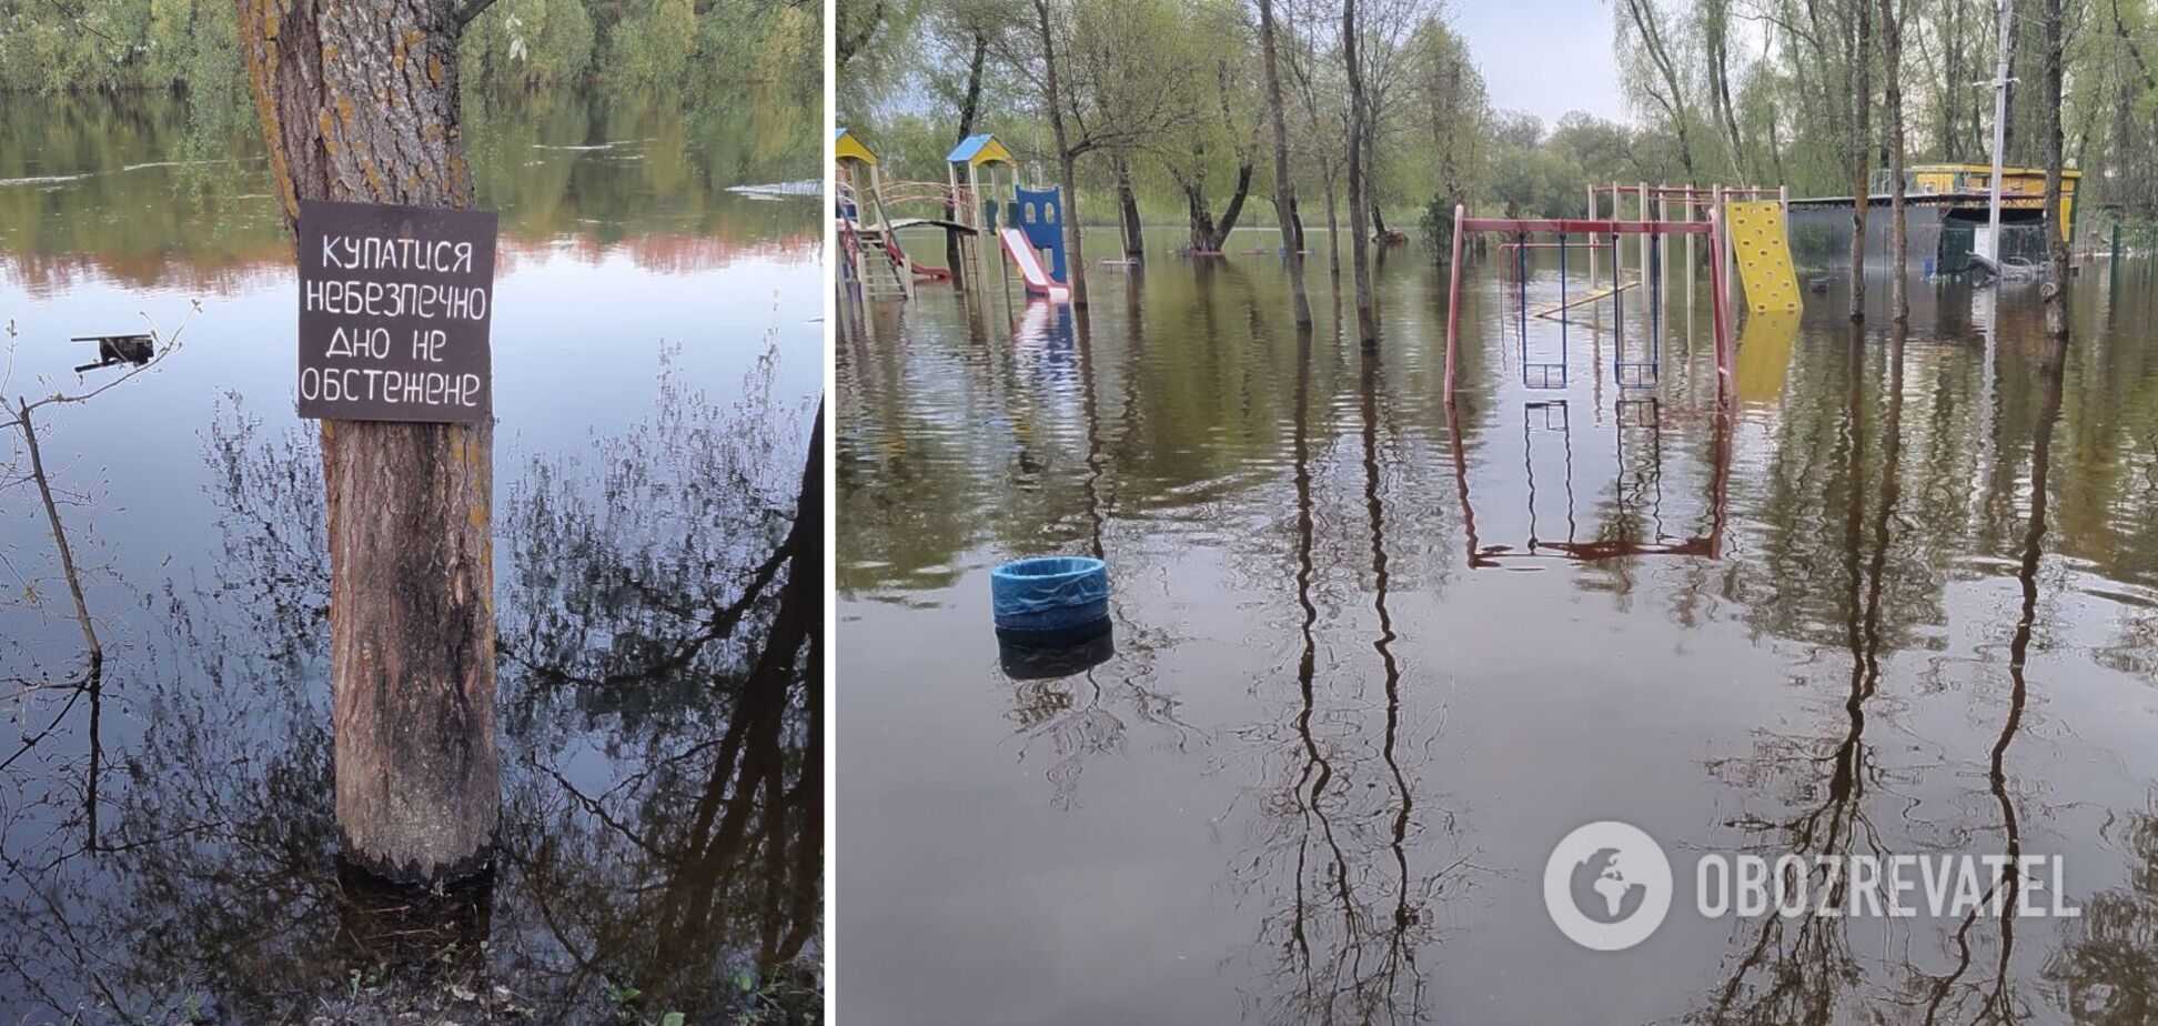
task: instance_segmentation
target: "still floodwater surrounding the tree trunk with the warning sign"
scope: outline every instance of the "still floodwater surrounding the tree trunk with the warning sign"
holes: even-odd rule
[[[322,469],[259,140],[160,97],[0,104],[4,395],[123,374],[76,374],[76,335],[177,341],[35,413],[101,663],[0,436],[0,1022],[818,1009],[814,110],[468,97],[501,853],[414,903],[334,860]]]

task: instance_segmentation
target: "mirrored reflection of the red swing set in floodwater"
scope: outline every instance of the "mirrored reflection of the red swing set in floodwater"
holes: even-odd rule
[[[1470,501],[1467,454],[1461,447],[1461,421],[1452,406],[1446,410],[1448,434],[1454,449],[1454,488],[1461,497],[1461,525],[1467,534],[1467,557],[1472,568],[1500,566],[1502,559],[1569,559],[1599,562],[1638,555],[1694,555],[1716,559],[1724,549],[1724,501],[1731,484],[1731,421],[1711,417],[1713,454],[1709,471],[1709,525],[1705,534],[1672,536],[1664,527],[1664,423],[1662,402],[1655,397],[1618,400],[1616,415],[1616,462],[1614,488],[1616,523],[1647,518],[1651,540],[1595,538],[1577,540],[1580,521],[1573,510],[1573,421],[1567,400],[1541,400],[1521,404],[1521,471],[1528,484],[1528,542],[1524,546],[1485,544],[1476,534],[1476,505]],[[1567,534],[1562,540],[1543,538],[1541,510],[1536,505],[1536,438],[1558,436],[1562,451],[1562,495]]]

